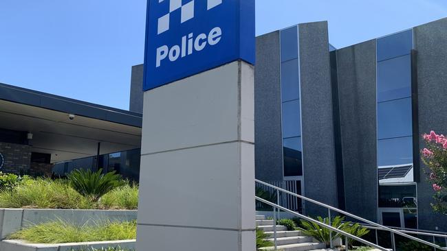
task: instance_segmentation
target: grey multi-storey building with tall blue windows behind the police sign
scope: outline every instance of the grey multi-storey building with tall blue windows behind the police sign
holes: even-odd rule
[[[419,158],[420,134],[447,133],[446,48],[447,19],[342,49],[327,22],[257,37],[256,178],[388,226],[447,231]]]

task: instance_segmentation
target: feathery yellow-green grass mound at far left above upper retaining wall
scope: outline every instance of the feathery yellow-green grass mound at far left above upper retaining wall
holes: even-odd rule
[[[96,205],[74,191],[65,180],[37,178],[17,185],[13,191],[1,191],[0,207],[90,209]]]

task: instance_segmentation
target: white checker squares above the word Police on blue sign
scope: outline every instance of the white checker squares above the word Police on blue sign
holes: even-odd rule
[[[182,0],[158,0],[158,3],[162,3],[164,1],[169,1],[169,13],[160,17],[158,19],[158,29],[157,34],[160,35],[163,32],[169,30],[169,23],[171,18],[171,12],[175,10],[181,11],[181,23],[184,23],[194,17],[194,1],[205,1],[205,0],[191,0],[188,3],[182,4]],[[206,0],[207,10],[215,8],[217,5],[220,5],[223,0]]]

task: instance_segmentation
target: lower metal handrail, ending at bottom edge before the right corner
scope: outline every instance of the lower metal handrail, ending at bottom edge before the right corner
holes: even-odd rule
[[[334,228],[333,226],[329,226],[329,225],[327,225],[327,224],[325,224],[325,223],[323,223],[323,222],[319,222],[318,220],[316,220],[316,219],[312,219],[311,217],[307,217],[307,216],[305,216],[305,215],[301,215],[301,213],[296,213],[296,212],[294,212],[294,211],[292,211],[292,210],[290,210],[290,209],[287,209],[287,208],[285,208],[285,207],[283,207],[283,206],[279,206],[279,205],[277,205],[277,204],[274,204],[274,203],[272,203],[272,202],[269,202],[268,200],[261,199],[261,198],[259,198],[259,197],[257,197],[257,196],[255,196],[254,198],[255,198],[256,200],[258,200],[259,202],[263,202],[263,203],[268,204],[268,205],[270,205],[270,206],[272,206],[272,207],[274,207],[274,208],[277,208],[277,209],[279,209],[279,210],[285,211],[285,212],[290,213],[290,214],[292,214],[292,215],[298,216],[298,217],[300,217],[301,219],[305,219],[305,220],[307,220],[308,222],[313,222],[314,224],[318,224],[319,226],[323,226],[323,228],[327,228],[327,229],[329,229],[329,230],[331,230],[331,231],[338,232],[340,235],[343,235],[343,236],[345,236],[345,237],[347,237],[347,238],[349,237],[350,239],[354,239],[354,240],[356,240],[356,241],[359,241],[359,242],[361,242],[361,243],[364,243],[365,245],[370,246],[370,247],[372,247],[372,248],[377,248],[377,249],[382,250],[382,251],[389,251],[388,248],[383,248],[383,247],[378,246],[378,245],[376,245],[376,244],[374,244],[374,243],[372,243],[372,242],[369,242],[369,241],[366,241],[366,240],[361,239],[361,238],[359,238],[359,237],[356,237],[355,235],[351,235],[351,234],[349,234],[349,232],[345,232],[345,231],[340,230],[340,229],[338,229],[338,228]],[[348,246],[348,241],[346,241],[346,246]]]

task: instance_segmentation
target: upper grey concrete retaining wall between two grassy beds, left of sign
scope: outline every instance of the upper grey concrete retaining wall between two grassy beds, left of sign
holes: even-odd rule
[[[78,209],[0,209],[0,238],[5,239],[21,228],[58,219],[74,224],[96,224],[105,219],[131,221],[137,219],[136,210],[78,210]],[[0,248],[3,251],[3,249]]]

